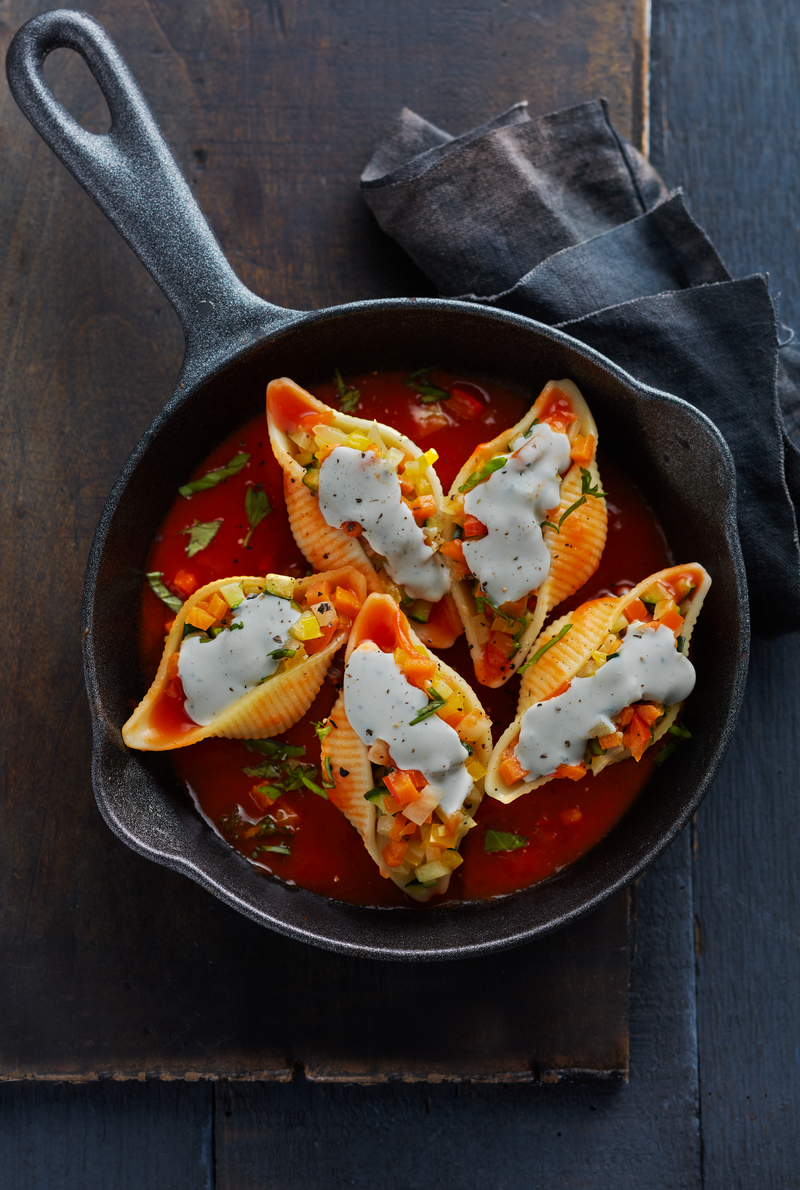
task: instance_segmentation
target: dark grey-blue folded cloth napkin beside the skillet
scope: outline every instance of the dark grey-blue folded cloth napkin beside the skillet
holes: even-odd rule
[[[731,277],[605,101],[517,104],[455,138],[405,109],[361,186],[443,296],[557,326],[717,424],[754,628],[800,628],[800,349],[779,344],[765,277]]]

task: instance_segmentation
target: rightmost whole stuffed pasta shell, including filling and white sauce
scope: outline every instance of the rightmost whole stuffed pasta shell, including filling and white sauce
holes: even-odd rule
[[[517,719],[492,753],[486,793],[513,802],[554,777],[580,781],[640,760],[694,689],[687,651],[710,585],[699,564],[671,566],[549,625],[525,669]]]

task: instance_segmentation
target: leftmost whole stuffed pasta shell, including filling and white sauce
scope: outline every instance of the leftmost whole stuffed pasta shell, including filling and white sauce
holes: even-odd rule
[[[175,618],[129,747],[165,751],[207,735],[265,739],[306,713],[367,597],[351,568],[310,578],[220,578]]]

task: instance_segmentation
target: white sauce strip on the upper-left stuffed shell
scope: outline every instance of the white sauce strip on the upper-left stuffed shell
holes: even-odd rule
[[[375,451],[337,446],[319,469],[319,509],[335,528],[358,521],[386,569],[412,599],[438,603],[450,580],[402,502],[396,471]]]

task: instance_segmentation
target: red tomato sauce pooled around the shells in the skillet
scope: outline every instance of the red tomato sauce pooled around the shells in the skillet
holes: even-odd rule
[[[405,383],[406,377],[406,372],[348,377],[348,384],[361,390],[352,413],[388,422],[424,450],[431,446],[437,450],[436,470],[445,493],[475,447],[513,426],[530,407],[518,394],[498,386],[475,384],[436,369],[429,381],[452,390],[454,397],[425,405]],[[332,381],[317,386],[313,393],[338,405]],[[273,457],[263,415],[231,434],[187,478],[223,468],[240,452],[250,458],[238,474],[188,500],[176,495],[152,544],[148,570],[161,571],[163,582],[181,599],[227,576],[275,571],[300,577],[307,572],[286,516],[281,469]],[[570,600],[554,609],[554,618],[600,594],[619,594],[670,564],[664,534],[640,493],[602,452],[598,465],[608,505],[606,549],[598,571]],[[265,493],[271,512],[248,540],[245,495],[254,486]],[[189,558],[186,531],[195,522],[212,521],[220,522],[213,539]],[[148,678],[157,669],[171,619],[169,608],[145,585],[139,640]],[[463,637],[442,656],[475,687]],[[305,719],[281,737],[304,746],[302,763],[318,770],[319,743],[312,725],[330,712],[340,681],[339,659]],[[495,724],[495,739],[515,715],[518,688],[518,678],[500,690],[475,687]],[[176,714],[180,718],[180,708]],[[340,901],[382,907],[410,903],[392,881],[381,878],[361,838],[330,801],[307,788],[286,793],[275,802],[258,794],[260,779],[244,769],[257,765],[264,757],[250,751],[246,743],[207,739],[176,749],[171,760],[202,815],[231,846],[258,866],[287,883]],[[514,892],[560,871],[593,847],[619,820],[648,781],[654,763],[655,756],[648,752],[639,764],[627,760],[611,765],[598,777],[551,781],[510,806],[485,797],[476,815],[477,826],[461,845],[464,863],[454,872],[446,896],[436,897],[431,904]],[[319,784],[319,771],[315,783]],[[265,816],[270,820],[270,833],[258,833]],[[508,832],[527,841],[514,851],[486,852],[487,829]],[[282,850],[263,851],[263,846]],[[283,848],[289,853],[285,854]]]

